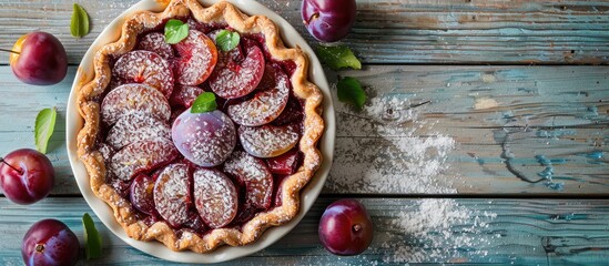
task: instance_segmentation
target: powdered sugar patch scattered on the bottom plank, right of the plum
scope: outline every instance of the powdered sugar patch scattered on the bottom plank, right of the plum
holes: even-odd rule
[[[454,200],[420,200],[382,225],[390,229],[378,249],[385,263],[456,263],[484,257],[493,239],[500,237],[486,232],[496,217]]]

